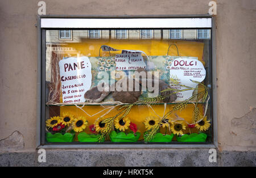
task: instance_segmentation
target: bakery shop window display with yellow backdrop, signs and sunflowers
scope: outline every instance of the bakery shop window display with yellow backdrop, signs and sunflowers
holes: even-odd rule
[[[211,32],[212,18],[42,18],[40,145],[212,144]]]

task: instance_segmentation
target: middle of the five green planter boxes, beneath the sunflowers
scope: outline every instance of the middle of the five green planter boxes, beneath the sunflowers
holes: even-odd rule
[[[114,130],[109,134],[110,141],[112,142],[137,142],[139,137],[141,136],[141,133],[136,132],[136,136],[133,134],[133,132],[130,132],[126,135],[124,132],[115,132]]]

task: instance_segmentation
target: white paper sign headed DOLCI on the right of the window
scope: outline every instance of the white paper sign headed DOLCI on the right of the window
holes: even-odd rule
[[[177,58],[175,59],[170,67],[170,78],[177,78],[180,84],[188,87],[195,88],[197,83],[192,82],[203,82],[205,79],[205,69],[203,63],[199,60],[188,59],[188,58]],[[172,88],[183,90],[186,87],[171,85]],[[188,90],[177,93],[177,99],[175,101],[184,101],[192,96],[194,90]]]

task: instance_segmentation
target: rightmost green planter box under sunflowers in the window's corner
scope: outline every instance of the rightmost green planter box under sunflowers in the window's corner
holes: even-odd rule
[[[177,135],[176,135],[176,139],[178,142],[205,142],[205,140],[207,139],[207,134],[192,133],[190,135],[184,134],[181,137],[177,137]]]

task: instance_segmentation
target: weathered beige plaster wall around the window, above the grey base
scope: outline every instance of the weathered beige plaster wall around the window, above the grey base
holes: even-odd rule
[[[15,145],[17,141],[20,145],[14,147],[20,151],[34,150],[36,147],[35,24],[38,2],[0,1],[0,143]],[[45,2],[46,13],[51,15],[207,14],[209,9],[209,0]],[[254,0],[217,1],[217,117],[220,150],[256,150],[255,10]],[[19,133],[14,133],[15,130]],[[5,142],[5,138],[12,141]]]

